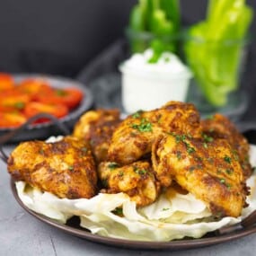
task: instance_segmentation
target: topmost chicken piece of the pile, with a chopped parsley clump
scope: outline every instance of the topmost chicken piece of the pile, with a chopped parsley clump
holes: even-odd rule
[[[168,102],[161,109],[137,111],[128,116],[113,133],[109,160],[133,163],[151,152],[156,137],[172,131],[200,135],[199,112],[192,104]]]

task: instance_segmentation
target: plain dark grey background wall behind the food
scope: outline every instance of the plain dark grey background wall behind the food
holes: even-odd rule
[[[75,77],[93,57],[123,37],[136,0],[0,0],[0,70]],[[248,0],[256,9],[256,1]],[[206,0],[181,0],[182,22],[204,17]],[[255,18],[252,34],[256,31]],[[251,95],[244,119],[254,119],[256,43],[243,87]]]

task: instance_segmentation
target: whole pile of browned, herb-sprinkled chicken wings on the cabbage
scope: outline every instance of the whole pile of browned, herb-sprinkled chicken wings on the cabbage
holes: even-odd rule
[[[137,207],[179,186],[213,216],[240,216],[252,166],[249,144],[229,119],[200,119],[193,104],[167,102],[125,119],[119,110],[85,112],[60,141],[22,142],[8,159],[8,172],[59,198],[124,192]]]

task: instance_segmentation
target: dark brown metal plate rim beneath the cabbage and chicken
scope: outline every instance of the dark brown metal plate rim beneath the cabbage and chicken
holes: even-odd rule
[[[168,251],[177,251],[177,250],[187,250],[193,248],[200,248],[209,245],[214,245],[217,243],[225,243],[228,241],[232,241],[243,236],[256,233],[256,225],[252,225],[248,228],[237,229],[236,231],[229,234],[218,234],[218,233],[208,233],[199,239],[182,239],[171,242],[143,242],[143,241],[131,241],[125,239],[117,239],[111,237],[105,237],[98,234],[92,234],[90,231],[82,228],[79,225],[79,218],[72,217],[66,223],[60,224],[57,221],[47,217],[40,215],[30,208],[26,207],[22,200],[19,198],[15,183],[11,180],[11,188],[13,191],[14,199],[20,204],[20,206],[30,213],[32,216],[36,217],[43,223],[51,225],[58,230],[61,230],[67,234],[75,235],[77,237],[83,238],[85,240],[94,242],[94,243],[102,243],[105,245],[110,245],[119,248],[127,248],[127,249],[139,249],[139,250],[168,250]]]

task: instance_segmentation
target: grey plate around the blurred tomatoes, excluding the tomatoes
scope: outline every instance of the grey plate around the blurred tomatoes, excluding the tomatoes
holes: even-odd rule
[[[54,75],[13,75],[15,82],[20,82],[23,79],[27,78],[39,78],[43,79],[50,84],[50,86],[55,88],[66,88],[66,87],[75,87],[80,89],[84,93],[84,98],[82,102],[69,112],[68,115],[59,119],[59,121],[66,125],[67,128],[73,128],[75,121],[84,113],[84,111],[89,110],[93,106],[93,93],[91,90],[86,87],[84,84],[79,83],[75,80],[64,78]],[[11,131],[15,128],[0,128],[0,136],[4,135],[8,131]],[[34,138],[46,138],[49,136],[57,135],[59,130],[51,122],[41,123],[31,125],[28,128],[25,128],[22,132],[19,132],[17,136],[12,137],[9,142],[17,142],[22,140],[30,140]]]

